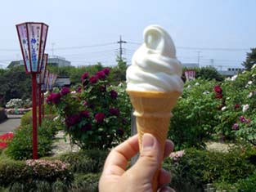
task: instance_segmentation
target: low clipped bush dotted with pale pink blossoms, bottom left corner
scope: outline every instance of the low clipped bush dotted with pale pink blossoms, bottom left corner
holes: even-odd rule
[[[20,191],[38,189],[38,183],[46,182],[52,185],[61,181],[63,185],[71,185],[74,176],[70,167],[59,160],[27,160],[25,161],[1,161],[0,185],[9,187],[11,191],[20,185]],[[22,189],[24,188],[24,189]],[[41,187],[42,188],[42,187]],[[39,191],[39,190],[35,190]]]

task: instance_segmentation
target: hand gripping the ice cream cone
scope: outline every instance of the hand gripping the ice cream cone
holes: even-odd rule
[[[131,168],[126,170],[128,160],[139,151],[137,135],[124,141],[108,155],[101,179],[100,192],[152,192],[151,180],[162,162],[160,145],[155,136],[146,133],[142,136],[140,158]],[[173,142],[165,142],[164,157],[173,151]],[[167,185],[171,181],[170,173],[161,169],[159,172],[159,190],[174,191]]]

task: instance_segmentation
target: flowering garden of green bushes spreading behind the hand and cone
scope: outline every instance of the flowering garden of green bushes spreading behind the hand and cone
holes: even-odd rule
[[[116,71],[83,71],[79,83],[46,95],[38,160],[31,160],[31,111],[15,132],[0,136],[0,191],[97,191],[106,155],[131,132],[132,105],[124,81],[113,80],[123,77]],[[256,67],[225,79],[203,71],[213,69],[186,81],[173,109],[168,138],[175,151],[163,163],[170,185],[185,192],[255,191]],[[56,140],[79,150],[54,154]],[[227,148],[209,149],[210,142]]]

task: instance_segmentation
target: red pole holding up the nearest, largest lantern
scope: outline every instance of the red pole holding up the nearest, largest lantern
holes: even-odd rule
[[[33,159],[38,159],[37,75],[32,73]]]

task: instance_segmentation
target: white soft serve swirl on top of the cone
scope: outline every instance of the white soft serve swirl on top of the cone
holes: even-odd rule
[[[176,59],[172,38],[157,25],[144,30],[144,43],[132,56],[126,73],[132,91],[182,92],[182,64]]]

